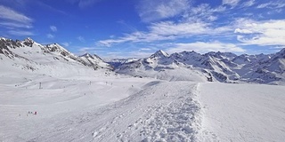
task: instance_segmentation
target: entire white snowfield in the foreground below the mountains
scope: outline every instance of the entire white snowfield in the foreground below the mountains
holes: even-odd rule
[[[284,86],[167,82],[97,72],[61,78],[1,75],[0,141],[285,138]]]

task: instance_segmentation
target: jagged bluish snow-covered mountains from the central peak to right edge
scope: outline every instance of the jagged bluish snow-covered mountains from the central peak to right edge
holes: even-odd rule
[[[149,58],[120,65],[118,73],[142,75],[167,80],[217,81],[223,83],[284,83],[285,49],[276,54],[240,56],[231,52],[195,51],[175,52],[168,55],[157,51]],[[183,71],[182,71],[183,70]],[[161,73],[167,75],[161,75]],[[169,76],[170,79],[169,79]]]

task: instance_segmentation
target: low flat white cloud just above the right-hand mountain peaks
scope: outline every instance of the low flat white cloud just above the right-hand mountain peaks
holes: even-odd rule
[[[196,43],[173,43],[166,51],[168,53],[181,52],[181,51],[198,51],[205,53],[208,51],[231,51],[231,52],[244,52],[245,50],[233,43],[220,43],[215,42],[196,42]]]

